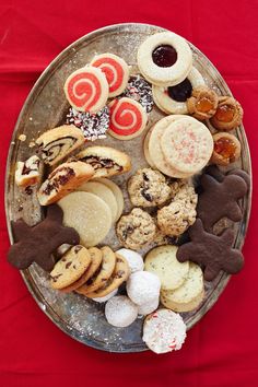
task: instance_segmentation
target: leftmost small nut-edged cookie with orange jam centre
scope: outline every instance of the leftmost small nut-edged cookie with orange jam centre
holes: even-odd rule
[[[213,90],[199,86],[192,90],[191,97],[187,99],[187,108],[195,118],[204,120],[214,116],[218,103],[219,97]]]

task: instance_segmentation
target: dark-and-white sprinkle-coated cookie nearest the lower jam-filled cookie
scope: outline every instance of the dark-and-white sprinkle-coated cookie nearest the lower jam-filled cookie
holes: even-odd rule
[[[139,102],[146,113],[153,108],[152,86],[139,74],[130,77],[122,96]]]

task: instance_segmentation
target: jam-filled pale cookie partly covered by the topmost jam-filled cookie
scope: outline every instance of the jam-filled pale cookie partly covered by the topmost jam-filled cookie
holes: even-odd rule
[[[204,85],[200,72],[192,67],[187,79],[175,86],[152,86],[153,98],[157,107],[166,114],[188,114],[187,98],[192,89]]]

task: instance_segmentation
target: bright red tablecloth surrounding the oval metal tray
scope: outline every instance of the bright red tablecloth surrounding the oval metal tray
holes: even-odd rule
[[[5,261],[9,239],[3,178],[19,112],[45,67],[67,45],[97,27],[144,22],[167,27],[199,47],[245,109],[254,172],[258,166],[258,2],[214,0],[2,0],[0,4],[0,385],[258,386],[258,200],[244,254],[218,304],[176,353],[109,354],[62,333],[39,310],[20,273]],[[254,180],[256,194],[257,179]]]

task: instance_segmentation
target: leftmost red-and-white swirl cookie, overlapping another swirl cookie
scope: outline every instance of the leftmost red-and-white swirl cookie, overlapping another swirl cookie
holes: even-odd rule
[[[104,72],[86,66],[72,72],[63,86],[67,99],[79,112],[96,113],[108,98],[108,83]]]

